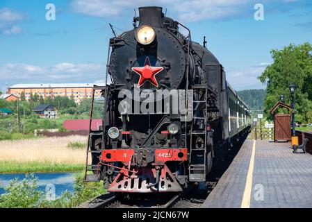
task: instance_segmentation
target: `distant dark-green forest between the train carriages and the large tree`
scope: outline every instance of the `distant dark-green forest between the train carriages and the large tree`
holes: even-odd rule
[[[263,110],[265,89],[244,89],[238,91],[238,95],[249,105],[250,110]]]

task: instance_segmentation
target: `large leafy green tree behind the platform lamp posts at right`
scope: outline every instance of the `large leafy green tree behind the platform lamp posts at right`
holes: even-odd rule
[[[290,104],[290,83],[295,83],[295,110],[299,122],[312,121],[312,45],[290,44],[284,49],[271,51],[274,62],[259,76],[267,86],[264,108],[268,114],[272,106],[284,94]]]

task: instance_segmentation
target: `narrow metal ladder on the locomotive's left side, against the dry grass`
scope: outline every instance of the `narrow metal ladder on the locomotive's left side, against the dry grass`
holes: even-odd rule
[[[92,151],[91,150],[91,144],[90,144],[90,139],[91,139],[91,135],[93,132],[92,130],[92,114],[93,114],[93,106],[95,104],[95,90],[103,90],[106,89],[106,87],[98,87],[98,86],[94,86],[92,89],[92,101],[91,101],[91,109],[90,109],[90,123],[89,123],[89,135],[88,135],[88,143],[87,143],[87,148],[86,148],[86,157],[85,157],[85,175],[83,178],[83,181],[85,182],[98,182],[100,180],[99,174],[98,174],[98,168],[99,166],[97,164],[92,164],[92,158],[91,158],[91,164],[88,164],[89,162],[89,154],[91,153],[91,155],[93,153],[101,153],[101,150],[97,150],[97,151]],[[107,90],[105,90],[106,92]],[[106,96],[105,96],[105,104],[106,104]],[[106,105],[105,105],[106,106]],[[93,173],[97,171],[97,173]],[[91,172],[90,174],[88,174],[89,172]]]

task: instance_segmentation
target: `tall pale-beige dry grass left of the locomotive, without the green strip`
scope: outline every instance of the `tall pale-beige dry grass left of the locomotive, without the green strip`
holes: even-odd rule
[[[0,162],[85,164],[85,148],[68,148],[70,142],[87,143],[88,137],[42,137],[0,141]]]

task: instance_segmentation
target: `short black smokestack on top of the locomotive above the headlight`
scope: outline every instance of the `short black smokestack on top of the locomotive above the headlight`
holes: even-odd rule
[[[154,27],[163,27],[163,8],[156,6],[140,7],[140,24]]]

